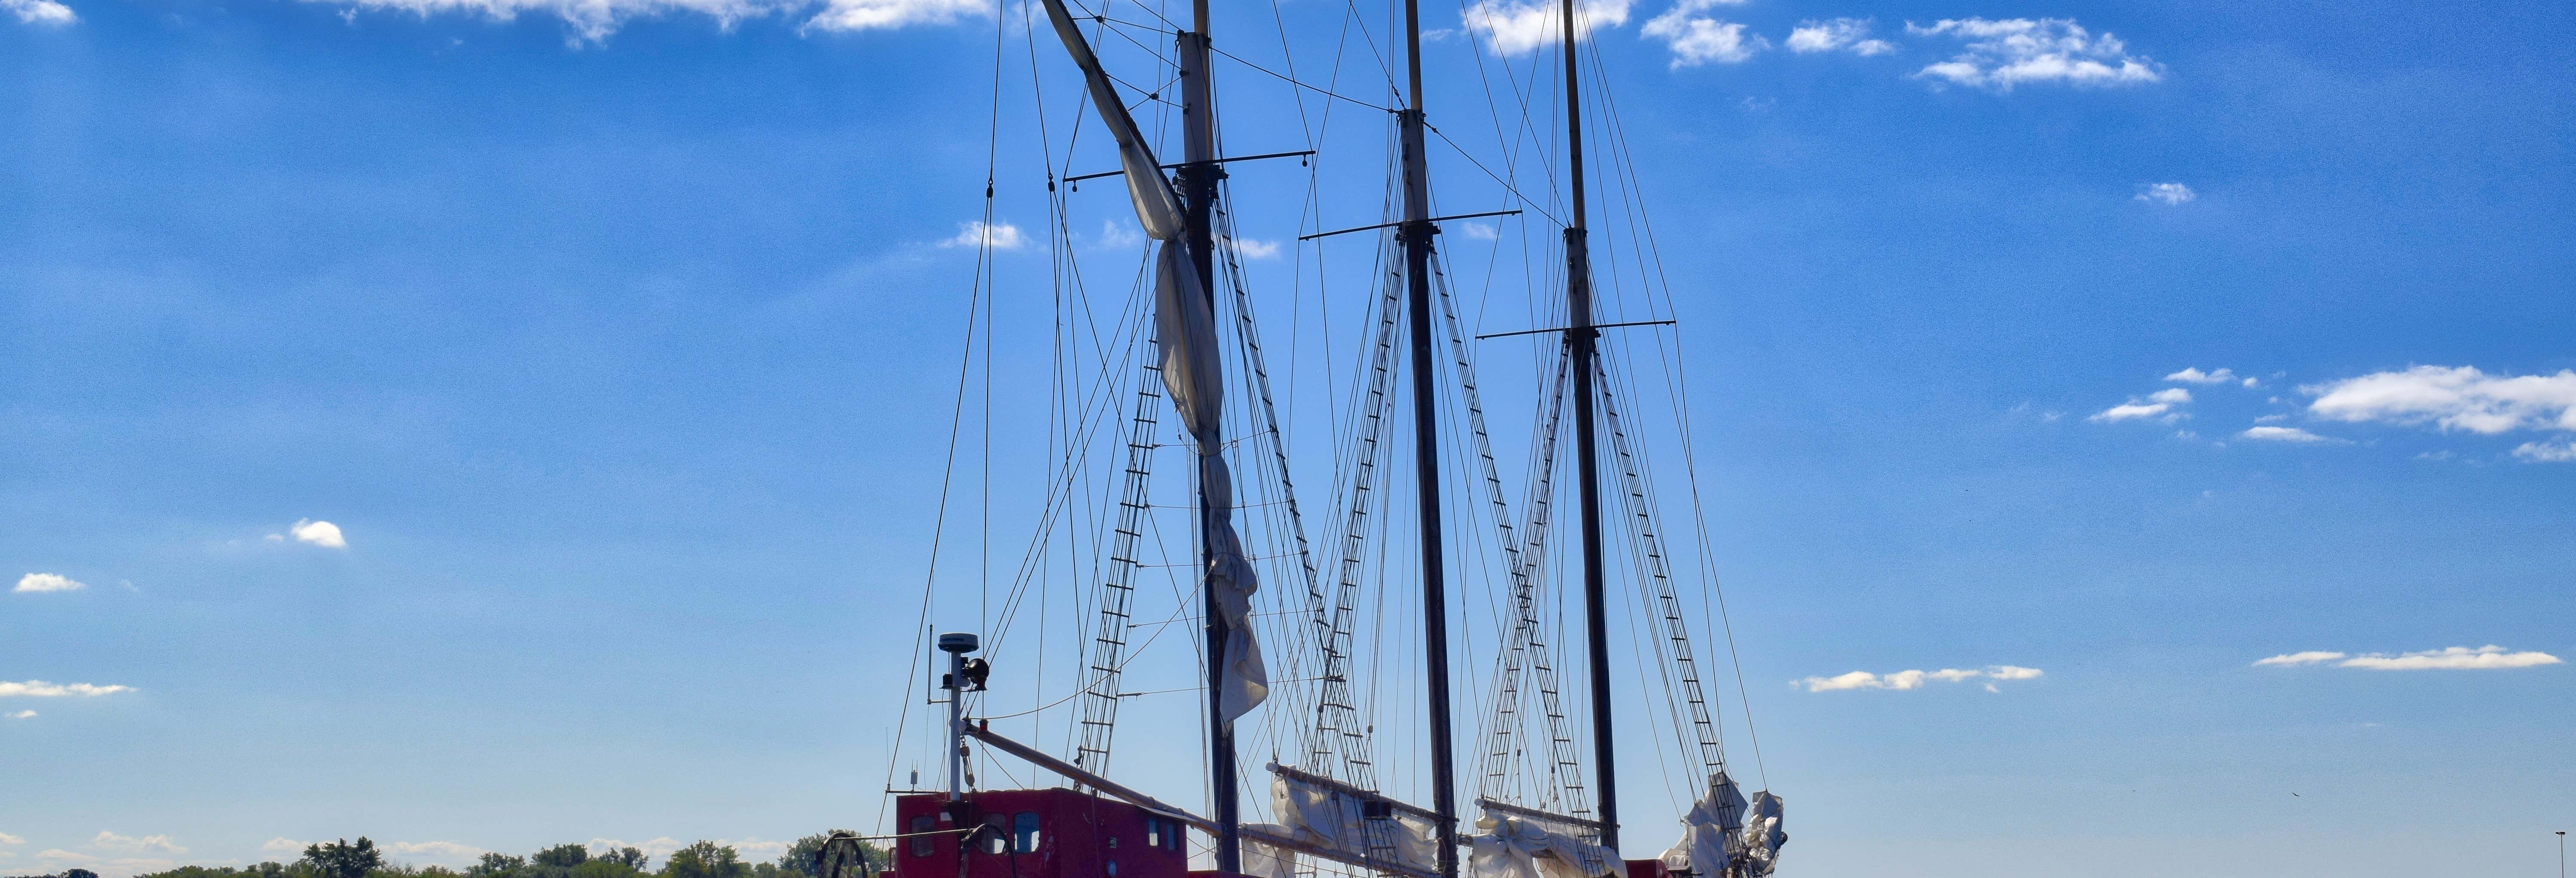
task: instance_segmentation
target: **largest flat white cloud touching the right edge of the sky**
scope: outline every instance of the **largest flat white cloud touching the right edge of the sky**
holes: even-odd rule
[[[2576,430],[2576,371],[2488,376],[2476,366],[2414,366],[2300,386],[2308,412],[2347,422],[2437,425],[2442,430]]]

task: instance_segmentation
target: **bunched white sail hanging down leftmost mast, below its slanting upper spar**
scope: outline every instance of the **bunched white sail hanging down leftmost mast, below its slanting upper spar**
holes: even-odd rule
[[[1208,590],[1216,595],[1213,610],[1231,631],[1216,703],[1231,724],[1270,698],[1270,669],[1262,664],[1262,644],[1252,636],[1252,592],[1260,590],[1260,579],[1252,574],[1252,561],[1244,561],[1242,536],[1234,533],[1234,471],[1218,453],[1224,448],[1216,435],[1224,386],[1216,360],[1216,314],[1198,286],[1185,242],[1162,242],[1162,252],[1157,252],[1154,337],[1162,345],[1162,386],[1172,394],[1172,407],[1180,409],[1180,422],[1198,445],[1198,479],[1208,518]]]

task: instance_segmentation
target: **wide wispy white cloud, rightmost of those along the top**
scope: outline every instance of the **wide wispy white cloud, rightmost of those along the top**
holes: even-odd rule
[[[1917,36],[1958,36],[1965,51],[1917,70],[1917,80],[2009,93],[2025,82],[2066,85],[2143,85],[2164,80],[2164,64],[2128,54],[2120,39],[2092,36],[2074,18],[1942,18],[1929,28],[1906,23]]]

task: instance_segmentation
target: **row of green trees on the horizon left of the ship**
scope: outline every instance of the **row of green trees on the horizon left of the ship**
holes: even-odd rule
[[[672,850],[670,857],[662,857],[662,868],[652,868],[652,857],[636,847],[554,845],[526,857],[487,852],[479,863],[459,870],[392,863],[374,839],[361,834],[355,842],[307,845],[296,863],[180,865],[134,878],[824,878],[814,875],[814,855],[829,837],[832,832],[801,837],[775,863],[742,863],[732,845],[716,842]],[[884,873],[886,852],[866,842],[860,847],[868,855],[868,868]],[[23,878],[98,878],[98,873],[70,868],[57,875]]]

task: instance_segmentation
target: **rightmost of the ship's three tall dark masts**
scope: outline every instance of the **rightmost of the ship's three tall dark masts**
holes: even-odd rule
[[[1564,8],[1558,36],[1566,57],[1566,167],[1574,196],[1566,224],[1566,350],[1574,355],[1574,458],[1584,528],[1584,641],[1592,659],[1592,767],[1600,772],[1602,847],[1618,852],[1618,762],[1610,742],[1610,613],[1602,595],[1602,479],[1600,448],[1592,438],[1592,376],[1600,360],[1600,330],[1592,327],[1592,252],[1584,229],[1584,100],[1574,67],[1574,0]]]

